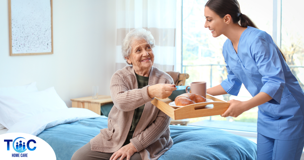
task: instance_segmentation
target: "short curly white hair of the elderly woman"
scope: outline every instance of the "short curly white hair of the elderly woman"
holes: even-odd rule
[[[123,59],[126,60],[126,57],[129,57],[129,55],[131,54],[132,43],[136,40],[142,39],[146,40],[150,44],[151,48],[154,48],[155,40],[151,32],[144,28],[135,28],[133,30],[130,30],[130,32],[126,35],[121,44],[121,54],[123,55]],[[128,63],[127,60],[126,62]]]

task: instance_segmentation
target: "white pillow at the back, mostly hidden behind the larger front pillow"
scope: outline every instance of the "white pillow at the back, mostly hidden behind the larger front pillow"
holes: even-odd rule
[[[0,88],[0,95],[13,96],[18,94],[37,92],[36,82],[24,86]]]

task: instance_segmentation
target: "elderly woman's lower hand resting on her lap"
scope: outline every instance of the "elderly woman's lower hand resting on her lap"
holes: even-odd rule
[[[134,145],[130,142],[129,144],[123,146],[118,151],[114,152],[111,156],[110,160],[116,160],[120,157],[120,160],[123,160],[123,158],[127,158],[127,160],[130,160],[131,156],[137,152]]]

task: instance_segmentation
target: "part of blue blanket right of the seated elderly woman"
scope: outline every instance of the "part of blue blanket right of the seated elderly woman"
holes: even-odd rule
[[[158,160],[257,159],[257,144],[220,129],[170,125],[170,132],[173,146]]]

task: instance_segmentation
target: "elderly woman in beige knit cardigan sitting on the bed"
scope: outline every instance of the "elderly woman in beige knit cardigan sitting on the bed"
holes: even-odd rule
[[[167,98],[176,90],[172,78],[153,67],[154,37],[143,28],[131,30],[122,42],[128,64],[116,71],[110,90],[114,106],[108,128],[100,130],[88,144],[76,151],[75,159],[158,159],[173,145],[170,117],[150,101]]]

